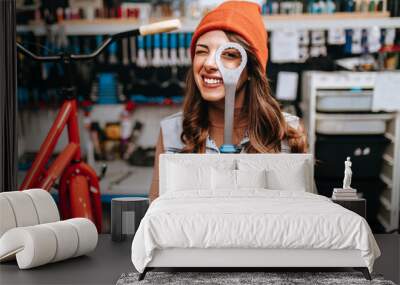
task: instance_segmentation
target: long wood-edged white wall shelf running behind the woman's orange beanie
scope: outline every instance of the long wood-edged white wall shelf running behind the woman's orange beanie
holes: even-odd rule
[[[292,14],[263,16],[268,31],[279,30],[329,30],[352,28],[400,28],[400,17],[389,17],[388,12],[374,13],[335,13],[335,14]],[[162,19],[157,19],[158,21]],[[179,32],[193,32],[199,19],[181,18],[182,28]],[[153,20],[147,23],[154,22]],[[68,20],[46,27],[42,22],[17,26],[17,32],[33,32],[45,35],[46,29],[64,30],[66,35],[106,35],[131,30],[141,23],[134,19],[95,19]]]

